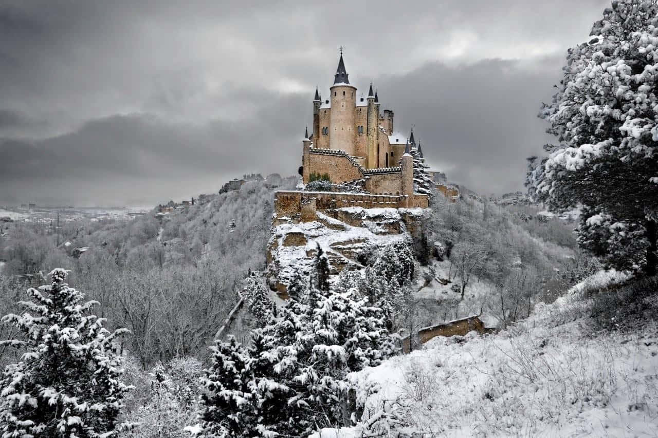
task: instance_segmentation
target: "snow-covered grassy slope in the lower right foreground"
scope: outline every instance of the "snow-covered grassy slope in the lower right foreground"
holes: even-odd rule
[[[436,337],[351,374],[366,406],[363,422],[384,435],[393,427],[434,437],[658,436],[657,322],[598,332],[587,317],[588,285],[624,278],[597,274],[497,335]],[[363,436],[364,429],[321,436]]]

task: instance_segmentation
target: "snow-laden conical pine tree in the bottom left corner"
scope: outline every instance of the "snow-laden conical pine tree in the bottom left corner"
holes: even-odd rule
[[[9,314],[24,349],[0,379],[3,437],[109,438],[116,436],[122,400],[130,389],[120,377],[120,356],[103,318],[89,315],[95,301],[68,287],[67,272],[50,272],[50,285],[29,289],[22,315]]]

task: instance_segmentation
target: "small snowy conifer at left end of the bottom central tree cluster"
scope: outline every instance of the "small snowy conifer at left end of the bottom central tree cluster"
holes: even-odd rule
[[[248,354],[233,336],[211,350],[211,367],[201,378],[199,423],[186,429],[204,438],[258,436],[258,394]]]

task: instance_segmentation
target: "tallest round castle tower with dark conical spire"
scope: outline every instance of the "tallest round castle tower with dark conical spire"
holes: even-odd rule
[[[331,93],[330,149],[355,155],[355,114],[357,87],[349,84],[343,55],[340,55]]]

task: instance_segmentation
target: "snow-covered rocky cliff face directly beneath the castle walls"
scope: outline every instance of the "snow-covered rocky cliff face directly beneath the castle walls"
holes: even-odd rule
[[[317,246],[327,255],[331,273],[363,268],[367,251],[395,240],[419,237],[420,208],[346,207],[317,212],[313,222],[286,216],[275,218],[267,247],[268,284],[286,297],[286,286],[295,270],[315,268]]]

